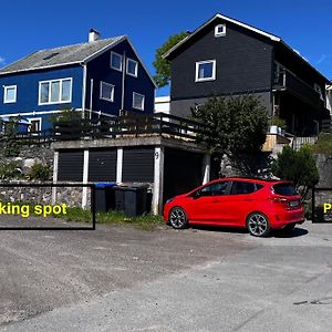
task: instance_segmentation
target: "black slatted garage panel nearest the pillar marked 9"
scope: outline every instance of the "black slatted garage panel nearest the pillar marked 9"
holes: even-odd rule
[[[154,147],[124,148],[123,181],[154,181]]]

